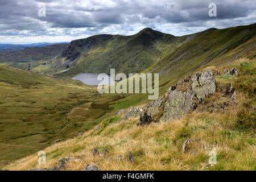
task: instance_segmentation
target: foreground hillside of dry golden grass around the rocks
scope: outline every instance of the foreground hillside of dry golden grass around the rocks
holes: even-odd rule
[[[39,166],[36,154],[20,159],[5,168],[26,170],[57,166],[58,160],[76,156],[67,170],[81,170],[87,164],[95,164],[102,170],[255,170],[255,71],[256,60],[241,59],[232,64],[216,67],[221,76],[215,76],[217,85],[232,82],[237,92],[235,106],[226,107],[224,113],[194,111],[176,121],[137,126],[138,118],[116,123],[118,117],[103,120],[101,130],[90,130],[82,137],[44,149],[47,164]],[[240,74],[225,76],[224,68],[237,67]],[[208,69],[208,68],[207,68]],[[253,92],[251,92],[253,90]],[[220,88],[209,102],[218,102]],[[183,154],[185,140],[188,152]],[[96,147],[107,148],[109,154],[92,156]],[[208,163],[209,151],[217,152],[217,164]],[[128,160],[133,154],[135,163]],[[120,155],[123,160],[117,159]]]

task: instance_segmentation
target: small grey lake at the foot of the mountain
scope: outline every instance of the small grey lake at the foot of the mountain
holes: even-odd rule
[[[84,82],[86,85],[99,85],[102,80],[97,80],[99,73],[81,73],[75,77],[73,77],[73,80],[80,80]],[[104,82],[102,82],[100,85],[109,85],[109,83],[114,83],[114,79],[108,75],[108,78],[104,79]]]

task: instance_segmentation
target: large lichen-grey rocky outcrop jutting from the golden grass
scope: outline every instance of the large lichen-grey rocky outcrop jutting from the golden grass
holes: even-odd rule
[[[213,95],[216,91],[216,80],[212,76],[214,74],[218,74],[218,72],[216,73],[212,69],[203,72],[201,75],[195,73],[195,75],[187,76],[176,85],[171,86],[164,96],[148,102],[144,106],[138,125],[179,119],[196,109],[197,105],[204,105],[205,97]],[[133,117],[133,114],[129,116]],[[123,117],[122,119],[126,118],[129,117]]]

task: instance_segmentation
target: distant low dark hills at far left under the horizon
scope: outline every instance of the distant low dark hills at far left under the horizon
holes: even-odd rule
[[[67,45],[54,44],[44,47],[24,48],[19,51],[2,52],[0,53],[0,65],[31,70],[35,67],[40,67],[40,65],[45,65],[46,61],[50,62]]]

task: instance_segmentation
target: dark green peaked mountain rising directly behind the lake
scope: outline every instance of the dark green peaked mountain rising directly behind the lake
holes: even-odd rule
[[[141,72],[196,36],[176,37],[151,28],[132,36],[94,35],[73,40],[56,59],[54,67],[69,68],[63,76],[109,73],[110,68],[123,73]]]

